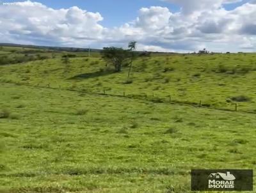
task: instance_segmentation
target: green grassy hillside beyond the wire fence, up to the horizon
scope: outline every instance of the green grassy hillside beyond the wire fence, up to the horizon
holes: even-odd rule
[[[85,54],[84,54],[85,55]],[[76,89],[110,95],[157,97],[181,104],[256,112],[256,54],[166,55],[139,58],[132,80],[113,73],[100,58],[60,58],[1,66],[1,82]],[[132,81],[132,82],[131,82]],[[130,84],[128,84],[130,83]],[[147,96],[146,96],[147,95]],[[136,97],[136,96],[134,96]]]

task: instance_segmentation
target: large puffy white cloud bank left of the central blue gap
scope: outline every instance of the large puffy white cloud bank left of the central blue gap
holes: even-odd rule
[[[0,6],[0,31],[5,42],[8,36],[12,42],[26,40],[31,43],[92,42],[102,36],[104,27],[100,13],[86,12],[76,6],[69,9],[54,10],[41,3],[25,1],[13,5]]]

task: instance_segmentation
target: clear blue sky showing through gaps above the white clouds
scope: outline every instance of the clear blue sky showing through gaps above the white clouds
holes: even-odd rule
[[[234,10],[234,8],[244,4],[247,1],[249,0],[244,0],[239,3],[225,4],[223,6],[227,10]],[[12,0],[4,2],[16,1]],[[163,6],[167,7],[171,12],[179,12],[180,10],[180,6],[177,4],[159,0],[37,0],[36,2],[40,2],[56,9],[78,6],[79,8],[87,10],[88,12],[99,12],[102,17],[104,17],[101,24],[106,27],[120,26],[124,24],[124,22],[134,20],[136,15],[138,15],[138,10],[140,10],[142,7],[147,8],[150,6]]]

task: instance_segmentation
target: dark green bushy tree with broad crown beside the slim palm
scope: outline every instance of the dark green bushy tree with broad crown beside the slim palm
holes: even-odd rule
[[[106,63],[111,63],[115,67],[115,72],[120,72],[122,65],[131,57],[130,50],[118,47],[104,47],[101,55]]]

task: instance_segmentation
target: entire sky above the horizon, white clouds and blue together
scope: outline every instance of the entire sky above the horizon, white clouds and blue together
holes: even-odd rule
[[[0,42],[256,51],[256,0],[0,1]]]

